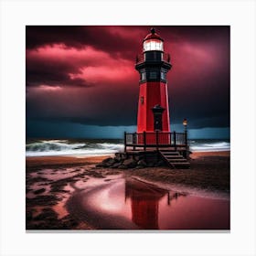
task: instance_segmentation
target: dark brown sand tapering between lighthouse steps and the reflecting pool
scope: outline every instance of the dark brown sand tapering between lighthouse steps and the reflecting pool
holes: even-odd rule
[[[139,176],[153,182],[229,193],[229,152],[198,152],[190,157],[190,169],[152,167],[135,169],[128,175]]]

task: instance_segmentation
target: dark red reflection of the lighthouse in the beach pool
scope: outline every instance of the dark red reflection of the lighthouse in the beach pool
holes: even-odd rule
[[[131,198],[132,220],[143,229],[159,229],[158,204],[168,190],[144,182],[127,179],[125,198]]]

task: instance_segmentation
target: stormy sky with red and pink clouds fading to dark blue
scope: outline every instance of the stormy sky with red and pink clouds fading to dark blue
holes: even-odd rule
[[[134,130],[134,62],[151,27],[173,65],[171,129],[186,117],[191,131],[227,132],[229,27],[27,26],[27,137],[119,137]]]

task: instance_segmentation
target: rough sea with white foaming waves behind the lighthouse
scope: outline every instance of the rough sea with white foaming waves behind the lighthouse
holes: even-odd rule
[[[189,149],[194,152],[229,151],[229,140],[189,140]],[[120,139],[27,139],[26,156],[52,155],[112,155],[123,151]]]

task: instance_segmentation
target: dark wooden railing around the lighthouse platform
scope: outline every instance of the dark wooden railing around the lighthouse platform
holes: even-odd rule
[[[124,151],[127,147],[147,148],[155,147],[156,150],[163,147],[172,147],[175,150],[177,147],[187,149],[187,132],[185,133],[168,133],[168,132],[144,132],[144,133],[124,133]]]

